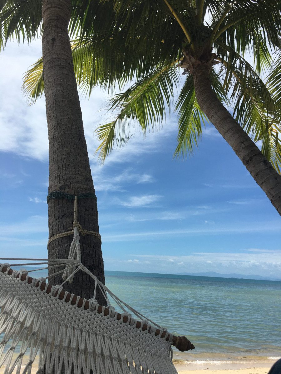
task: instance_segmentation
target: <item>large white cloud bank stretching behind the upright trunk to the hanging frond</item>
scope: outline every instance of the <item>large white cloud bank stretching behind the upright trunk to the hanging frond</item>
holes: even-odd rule
[[[46,162],[48,160],[48,131],[45,98],[38,99],[36,104],[29,107],[21,92],[23,74],[41,56],[41,40],[34,41],[31,46],[27,44],[18,46],[16,42],[8,42],[1,54],[1,71],[10,71],[11,74],[0,76],[0,89],[5,92],[0,97],[2,135],[0,150]],[[108,93],[97,87],[93,89],[89,100],[83,95],[80,95],[80,98],[89,158],[93,162],[94,153],[99,145],[94,129],[104,123],[108,117],[106,111],[101,111],[108,101]],[[108,156],[105,165],[130,161],[132,157],[148,152],[159,152],[161,139],[171,134],[176,136],[176,124],[173,121],[169,121],[169,126],[163,126],[158,133],[147,134],[146,139],[136,132],[126,147],[114,150]],[[97,162],[97,157],[94,162]],[[136,183],[150,183],[151,181],[149,174],[143,174],[139,176]]]

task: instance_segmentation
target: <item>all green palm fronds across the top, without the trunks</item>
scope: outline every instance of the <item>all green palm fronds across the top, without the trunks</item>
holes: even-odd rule
[[[91,93],[95,85],[123,88],[109,102],[114,118],[97,134],[102,160],[132,134],[158,128],[173,103],[178,115],[175,156],[192,153],[202,134],[200,110],[188,59],[211,61],[212,87],[233,116],[280,172],[280,0],[72,0],[69,25],[76,79]],[[15,37],[30,40],[42,30],[39,0],[2,1],[1,46]],[[250,64],[245,55],[251,55]],[[184,68],[185,82],[177,65]],[[264,71],[270,71],[263,83]],[[43,92],[40,60],[25,76],[31,101]]]

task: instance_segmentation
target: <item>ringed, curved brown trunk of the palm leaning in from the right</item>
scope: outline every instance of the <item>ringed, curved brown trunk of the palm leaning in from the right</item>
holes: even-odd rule
[[[218,100],[212,90],[208,70],[206,65],[199,65],[193,70],[194,88],[201,110],[232,147],[281,215],[281,175]]]

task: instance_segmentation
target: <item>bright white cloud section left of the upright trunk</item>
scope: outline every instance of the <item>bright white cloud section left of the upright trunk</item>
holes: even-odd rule
[[[21,92],[24,72],[41,55],[40,42],[31,46],[9,42],[1,54],[1,71],[12,73],[0,76],[0,86],[5,92],[0,98],[0,150],[45,160],[48,156],[45,100],[28,107]]]

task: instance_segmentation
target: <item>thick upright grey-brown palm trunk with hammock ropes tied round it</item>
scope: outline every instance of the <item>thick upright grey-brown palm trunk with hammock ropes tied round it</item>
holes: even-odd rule
[[[49,193],[63,191],[79,195],[94,193],[82,113],[73,70],[67,27],[70,0],[43,0],[43,76],[49,134]],[[49,237],[69,231],[73,222],[73,200],[51,199],[48,202]],[[99,232],[97,202],[78,200],[78,221],[85,230]],[[67,258],[72,237],[56,239],[49,244],[49,258]],[[104,269],[100,240],[93,235],[81,236],[82,263],[103,283]],[[49,275],[60,268],[49,270]],[[60,284],[61,274],[51,284]],[[94,280],[81,271],[66,291],[91,298]],[[105,304],[98,294],[97,300]]]

